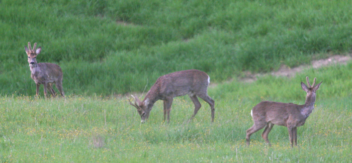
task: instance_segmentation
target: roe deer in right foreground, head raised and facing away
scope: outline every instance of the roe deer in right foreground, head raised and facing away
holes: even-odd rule
[[[302,89],[307,92],[306,102],[303,105],[261,101],[252,108],[250,113],[254,124],[246,131],[247,145],[249,145],[250,135],[265,127],[261,137],[271,146],[268,134],[274,124],[286,126],[289,130],[291,147],[293,147],[293,141],[297,145],[297,127],[303,125],[309,114],[313,111],[315,92],[322,83],[320,82],[315,85],[316,78],[314,78],[313,85],[310,85],[308,76],[306,79],[308,86],[301,82]]]

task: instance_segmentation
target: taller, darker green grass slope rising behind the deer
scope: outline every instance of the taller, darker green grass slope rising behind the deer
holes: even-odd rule
[[[197,68],[218,82],[352,47],[346,0],[1,0],[0,89],[34,95],[24,46],[59,64],[66,94],[142,91]],[[41,89],[41,94],[43,95]]]

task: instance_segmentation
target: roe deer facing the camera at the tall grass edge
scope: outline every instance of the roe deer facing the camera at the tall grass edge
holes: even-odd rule
[[[33,49],[31,43],[28,42],[28,47],[25,46],[28,55],[28,63],[31,69],[31,77],[36,83],[36,95],[39,95],[39,85],[44,85],[44,95],[47,97],[47,90],[55,97],[55,90],[52,85],[55,83],[56,88],[60,91],[61,96],[64,97],[62,89],[62,70],[61,67],[54,63],[37,63],[37,55],[40,53],[42,47],[36,49],[37,42],[34,43]]]

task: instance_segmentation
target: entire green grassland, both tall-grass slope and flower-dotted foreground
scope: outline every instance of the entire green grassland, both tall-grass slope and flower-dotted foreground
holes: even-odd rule
[[[350,162],[352,62],[292,78],[250,73],[294,67],[352,47],[348,0],[0,0],[0,162]],[[65,98],[35,95],[24,46],[63,70]],[[142,98],[160,75],[200,69],[215,100],[193,121],[188,96],[170,123],[157,101],[141,124],[126,94]],[[300,82],[323,81],[291,148],[275,125],[245,144],[262,100],[303,104]],[[56,88],[55,88],[56,89]],[[136,93],[134,93],[136,92]]]

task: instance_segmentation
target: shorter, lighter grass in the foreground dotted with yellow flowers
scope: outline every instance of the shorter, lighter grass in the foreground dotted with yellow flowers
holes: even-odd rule
[[[192,122],[188,97],[174,99],[164,123],[162,102],[141,124],[126,98],[68,95],[0,98],[0,162],[349,162],[352,159],[352,63],[310,69],[294,78],[265,76],[253,83],[218,84],[209,90],[216,118],[202,107]],[[287,128],[274,126],[272,147],[261,131],[245,145],[250,109],[261,100],[304,103],[300,81],[323,81],[315,109],[298,127],[291,148]]]

